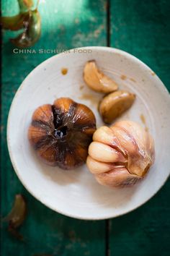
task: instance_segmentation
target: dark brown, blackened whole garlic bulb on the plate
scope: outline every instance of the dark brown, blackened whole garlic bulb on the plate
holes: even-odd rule
[[[28,138],[45,163],[70,169],[86,162],[95,129],[95,116],[87,106],[59,98],[35,110]]]

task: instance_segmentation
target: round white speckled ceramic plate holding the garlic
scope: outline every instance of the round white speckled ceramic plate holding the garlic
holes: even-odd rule
[[[121,119],[148,127],[156,146],[156,161],[146,179],[131,188],[109,189],[97,184],[86,165],[63,171],[42,163],[27,140],[33,111],[55,98],[70,97],[94,111],[97,127],[102,119],[97,102],[102,95],[84,84],[86,61],[95,59],[100,69],[121,89],[137,95],[132,108]],[[68,74],[61,69],[66,67]],[[49,208],[73,218],[112,218],[138,208],[156,194],[169,176],[169,93],[156,74],[134,56],[115,48],[87,47],[58,54],[36,67],[22,82],[9,112],[7,140],[9,154],[24,187]],[[146,124],[141,120],[143,115]]]

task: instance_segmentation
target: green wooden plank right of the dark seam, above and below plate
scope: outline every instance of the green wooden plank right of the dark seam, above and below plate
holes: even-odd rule
[[[148,64],[170,90],[169,1],[111,1],[111,46]],[[146,205],[109,226],[110,256],[169,255],[170,182]]]

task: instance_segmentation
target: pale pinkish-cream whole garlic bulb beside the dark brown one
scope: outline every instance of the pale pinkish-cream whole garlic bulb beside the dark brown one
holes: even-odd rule
[[[133,185],[146,176],[154,162],[153,138],[134,121],[100,127],[93,140],[86,164],[99,184]]]

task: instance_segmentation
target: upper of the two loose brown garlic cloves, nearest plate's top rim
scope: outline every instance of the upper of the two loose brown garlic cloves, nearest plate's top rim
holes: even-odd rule
[[[117,83],[103,74],[98,68],[96,61],[87,61],[84,67],[84,81],[92,90],[100,93],[110,93],[117,90]]]

